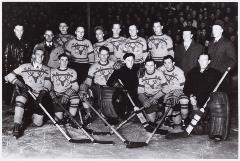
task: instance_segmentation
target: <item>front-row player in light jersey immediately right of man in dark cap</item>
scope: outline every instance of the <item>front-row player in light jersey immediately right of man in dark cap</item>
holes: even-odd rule
[[[145,107],[148,120],[155,122],[157,112],[164,111],[162,98],[168,92],[168,84],[162,71],[156,70],[153,59],[145,60],[145,69],[144,76],[139,79],[138,99]]]

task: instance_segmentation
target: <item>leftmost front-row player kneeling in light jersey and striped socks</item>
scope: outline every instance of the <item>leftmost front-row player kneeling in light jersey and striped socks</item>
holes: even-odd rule
[[[13,136],[19,137],[22,135],[23,114],[26,102],[29,100],[28,90],[32,90],[33,94],[37,97],[37,103],[33,107],[33,123],[36,126],[43,124],[43,111],[36,105],[41,102],[44,94],[50,90],[51,83],[50,69],[42,64],[44,58],[43,49],[36,48],[33,54],[32,63],[26,63],[5,76],[5,80],[11,84],[15,84],[20,88],[19,94],[16,97],[15,114],[14,114],[14,127]],[[17,79],[17,75],[22,76],[24,82]]]

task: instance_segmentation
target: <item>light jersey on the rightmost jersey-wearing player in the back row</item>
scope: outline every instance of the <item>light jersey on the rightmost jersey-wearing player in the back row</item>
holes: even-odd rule
[[[153,60],[163,61],[163,57],[171,55],[174,57],[173,41],[171,37],[162,35],[153,35],[148,39],[148,47]]]

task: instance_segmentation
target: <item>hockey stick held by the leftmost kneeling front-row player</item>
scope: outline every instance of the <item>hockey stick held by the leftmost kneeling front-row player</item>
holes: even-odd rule
[[[32,98],[34,100],[36,100],[36,96],[30,91],[28,90],[28,93],[32,96]],[[64,131],[63,129],[58,125],[58,123],[52,118],[52,116],[47,112],[47,110],[43,107],[43,105],[41,103],[38,104],[41,109],[44,111],[44,113],[49,117],[49,119],[53,122],[53,124],[61,131],[61,133],[63,134],[63,136],[70,142],[70,143],[92,143],[92,140],[90,139],[72,139],[70,138]]]

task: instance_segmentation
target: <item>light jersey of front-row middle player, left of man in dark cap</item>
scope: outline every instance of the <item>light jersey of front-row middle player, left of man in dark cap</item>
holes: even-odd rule
[[[91,86],[93,80],[95,84],[106,86],[108,78],[114,71],[113,65],[113,61],[108,61],[107,64],[101,64],[100,61],[94,63],[88,71],[85,83]]]

